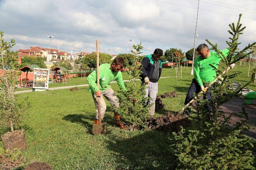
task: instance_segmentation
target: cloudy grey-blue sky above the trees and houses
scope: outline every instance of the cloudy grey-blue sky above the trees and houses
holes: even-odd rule
[[[51,44],[91,53],[98,39],[100,52],[118,55],[129,53],[133,39],[143,55],[155,48],[186,52],[194,47],[197,7],[198,0],[0,0],[0,30],[6,41],[16,40],[13,50]],[[256,41],[256,0],[200,0],[196,47],[207,38],[226,48],[228,24],[240,13],[244,47]]]

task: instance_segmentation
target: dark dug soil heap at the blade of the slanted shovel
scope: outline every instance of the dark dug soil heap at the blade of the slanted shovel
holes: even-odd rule
[[[179,132],[180,126],[188,127],[191,124],[188,118],[181,117],[180,114],[174,115],[171,112],[168,114],[160,116],[160,117],[153,117],[147,119],[147,127],[150,129],[158,129],[164,132]]]

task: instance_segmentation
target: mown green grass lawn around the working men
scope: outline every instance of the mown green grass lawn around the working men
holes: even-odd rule
[[[246,68],[241,66],[241,69]],[[162,99],[165,108],[157,112],[156,116],[166,114],[167,111],[177,112],[183,107],[193,79],[190,71],[191,67],[183,70],[182,79],[171,77],[159,80],[158,94],[176,91],[178,97]],[[243,74],[246,76],[241,76],[239,81],[248,79],[247,72]],[[175,76],[175,69],[164,68],[162,76]],[[128,75],[123,77],[127,79]],[[67,85],[86,83],[86,80],[79,77],[71,78]],[[53,83],[49,87],[62,85]],[[118,91],[117,83],[111,86],[114,91]],[[256,90],[255,84],[249,88]],[[18,94],[22,98],[29,96],[31,101],[31,107],[19,127],[26,131],[28,149],[22,152],[25,164],[42,161],[50,164],[54,170],[175,168],[174,156],[169,151],[169,145],[172,144],[170,134],[156,130],[121,130],[115,126],[108,102],[103,119],[107,123],[107,134],[92,135],[91,128],[96,114],[94,102],[88,87],[78,89]],[[6,129],[0,129],[0,135],[5,132]],[[2,143],[0,147],[3,147]]]

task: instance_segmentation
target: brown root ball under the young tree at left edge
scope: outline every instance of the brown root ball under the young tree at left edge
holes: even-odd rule
[[[13,132],[7,132],[1,136],[3,142],[3,148],[10,149],[14,148],[20,149],[21,151],[27,149],[26,137],[24,129],[15,130]]]

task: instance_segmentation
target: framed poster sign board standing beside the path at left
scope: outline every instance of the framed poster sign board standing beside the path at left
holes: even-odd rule
[[[47,90],[48,82],[49,82],[49,69],[35,68],[33,88]]]

